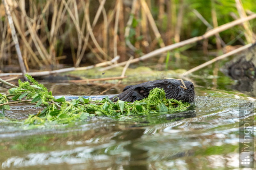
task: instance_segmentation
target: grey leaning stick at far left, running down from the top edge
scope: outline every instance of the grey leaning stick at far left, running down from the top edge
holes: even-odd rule
[[[19,63],[20,63],[20,69],[21,69],[21,72],[23,74],[23,77],[26,80],[28,80],[28,78],[25,76],[26,68],[25,68],[25,64],[23,62],[23,58],[22,58],[22,55],[21,55],[20,45],[19,45],[19,41],[18,41],[17,34],[16,34],[16,31],[15,31],[15,27],[14,27],[14,24],[13,24],[13,20],[12,20],[12,16],[11,16],[11,11],[10,11],[10,8],[9,8],[9,5],[7,4],[7,2],[5,0],[2,0],[2,2],[4,4],[4,9],[5,9],[7,18],[8,18],[9,26],[11,28],[12,39],[13,39],[13,41],[15,43],[15,49],[16,49],[18,60],[19,60]]]

